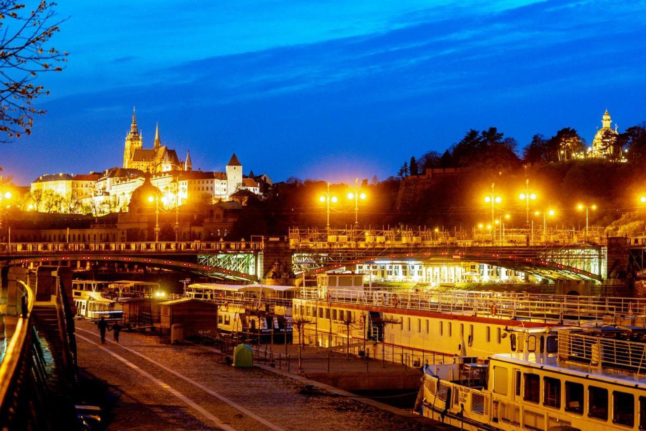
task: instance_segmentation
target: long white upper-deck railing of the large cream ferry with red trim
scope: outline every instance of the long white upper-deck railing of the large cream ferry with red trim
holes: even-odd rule
[[[305,287],[301,299],[350,303],[447,314],[504,317],[562,323],[628,317],[630,325],[646,326],[646,299],[568,296],[514,292],[397,292],[395,290],[322,290]]]

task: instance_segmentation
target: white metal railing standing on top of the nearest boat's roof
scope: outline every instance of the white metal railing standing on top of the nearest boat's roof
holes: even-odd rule
[[[559,361],[646,374],[646,343],[595,337],[559,330]]]

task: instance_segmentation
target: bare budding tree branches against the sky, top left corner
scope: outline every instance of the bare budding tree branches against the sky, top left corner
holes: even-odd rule
[[[34,116],[45,114],[32,102],[49,94],[34,80],[41,72],[60,72],[67,61],[67,52],[46,46],[62,22],[55,21],[55,5],[43,0],[27,12],[16,1],[0,0],[0,132],[8,136],[0,142],[31,134]]]

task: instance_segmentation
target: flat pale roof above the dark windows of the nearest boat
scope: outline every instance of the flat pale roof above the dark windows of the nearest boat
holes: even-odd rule
[[[646,375],[614,368],[597,368],[596,366],[586,366],[568,361],[558,361],[556,354],[541,355],[535,353],[510,353],[495,354],[490,357],[492,360],[512,363],[516,365],[525,365],[532,368],[540,368],[581,377],[583,379],[596,379],[616,383],[618,385],[632,386],[646,390]]]

